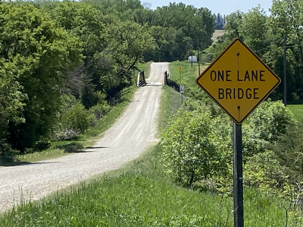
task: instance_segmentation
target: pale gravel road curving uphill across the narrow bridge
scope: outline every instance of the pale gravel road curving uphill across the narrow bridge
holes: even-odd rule
[[[138,157],[155,138],[162,73],[168,63],[152,63],[147,85],[138,88],[125,113],[87,152],[21,166],[0,168],[0,212],[21,199],[37,200]]]

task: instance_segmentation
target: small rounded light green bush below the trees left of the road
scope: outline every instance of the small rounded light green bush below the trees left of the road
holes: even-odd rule
[[[84,132],[91,124],[93,116],[88,113],[81,103],[75,104],[69,111],[63,113],[61,123],[63,129],[73,129]]]

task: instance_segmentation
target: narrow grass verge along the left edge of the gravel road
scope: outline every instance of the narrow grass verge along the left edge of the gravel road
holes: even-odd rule
[[[148,77],[150,71],[150,63],[140,63],[137,65],[140,71],[144,70],[145,75]],[[137,78],[138,71],[134,72],[134,77]],[[134,78],[134,81],[135,81]],[[38,162],[42,160],[48,160],[60,156],[65,156],[72,154],[65,153],[62,149],[57,149],[57,146],[66,145],[69,143],[80,143],[83,147],[92,146],[95,141],[100,138],[100,135],[104,133],[108,128],[112,126],[113,123],[117,120],[121,113],[124,112],[125,108],[128,106],[129,101],[132,100],[133,94],[137,89],[135,83],[128,88],[123,90],[123,96],[121,97],[121,102],[116,106],[112,107],[111,111],[100,120],[98,120],[94,127],[89,128],[85,133],[78,136],[75,140],[60,140],[60,141],[51,141],[51,146],[41,152],[35,152],[32,154],[18,155],[14,157],[15,162],[5,162],[5,160],[0,160],[0,166],[10,166],[18,165],[20,162]]]

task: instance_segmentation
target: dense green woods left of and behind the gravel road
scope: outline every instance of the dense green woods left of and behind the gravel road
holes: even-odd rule
[[[0,154],[84,132],[135,82],[138,62],[184,60],[213,31],[211,11],[182,3],[0,2]]]

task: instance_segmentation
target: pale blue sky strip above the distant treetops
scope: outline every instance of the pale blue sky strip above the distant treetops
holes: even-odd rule
[[[169,0],[141,0],[141,3],[150,2],[151,8],[155,9],[157,6],[168,5]],[[176,1],[180,2],[180,1]],[[269,15],[270,12],[268,8],[271,7],[272,0],[183,0],[181,1],[186,5],[194,5],[196,8],[206,7],[211,10],[212,13],[220,13],[228,15],[231,12],[235,12],[237,9],[242,12],[248,12],[252,7],[261,5],[264,8],[266,14]]]

